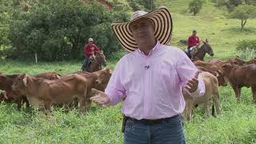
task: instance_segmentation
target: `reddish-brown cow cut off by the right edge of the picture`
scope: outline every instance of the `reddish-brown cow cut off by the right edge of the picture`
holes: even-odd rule
[[[251,87],[253,101],[256,102],[256,65],[250,64],[237,66],[232,64],[223,65],[224,75],[229,80],[235,96],[240,102],[241,89],[243,86]]]

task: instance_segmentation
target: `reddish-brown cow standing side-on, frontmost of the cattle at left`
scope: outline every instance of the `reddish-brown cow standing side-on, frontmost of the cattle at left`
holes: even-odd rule
[[[83,112],[88,86],[88,80],[79,74],[68,74],[54,81],[21,74],[14,82],[13,90],[26,95],[32,106],[44,107],[49,112],[52,104],[68,104],[78,97],[80,111]]]

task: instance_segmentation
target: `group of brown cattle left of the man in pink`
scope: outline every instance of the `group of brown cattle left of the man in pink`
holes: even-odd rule
[[[46,111],[50,111],[51,106],[75,108],[79,103],[83,112],[90,102],[91,89],[104,90],[111,74],[110,69],[63,75],[56,72],[35,75],[0,73],[0,90],[4,90],[0,101],[15,102],[18,110],[26,103],[26,107],[36,106]]]

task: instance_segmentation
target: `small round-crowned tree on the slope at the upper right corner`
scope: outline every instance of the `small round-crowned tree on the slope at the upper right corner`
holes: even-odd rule
[[[230,13],[230,18],[236,18],[241,20],[241,30],[246,25],[247,19],[256,18],[256,6],[252,5],[239,5],[234,8],[234,11]]]

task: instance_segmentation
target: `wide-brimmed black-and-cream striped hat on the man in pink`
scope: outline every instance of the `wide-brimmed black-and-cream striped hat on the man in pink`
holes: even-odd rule
[[[112,24],[114,34],[125,50],[132,52],[138,48],[137,42],[135,42],[130,30],[130,23],[139,18],[150,18],[151,22],[154,24],[154,37],[158,39],[160,43],[165,45],[170,41],[173,22],[170,11],[165,6],[161,6],[149,13],[138,10],[134,12],[130,22]]]

